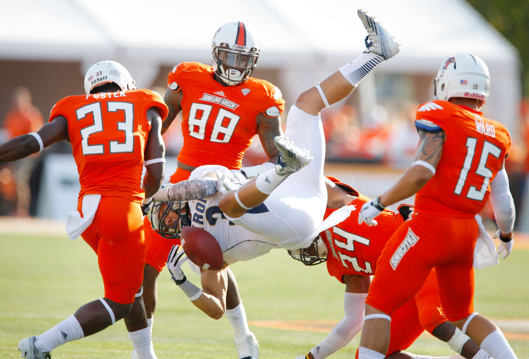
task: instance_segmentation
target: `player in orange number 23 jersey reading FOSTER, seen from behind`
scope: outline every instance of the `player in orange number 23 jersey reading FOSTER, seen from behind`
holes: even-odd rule
[[[81,190],[66,229],[71,240],[80,235],[96,252],[105,295],[47,332],[22,339],[18,348],[25,358],[50,358],[53,348],[124,318],[138,357],[153,359],[156,354],[141,305],[145,263],[141,202],[159,189],[163,178],[165,146],[160,131],[167,106],[158,93],[136,89],[129,71],[114,61],[90,67],[85,91],[86,95],[58,101],[48,124],[37,132],[0,146],[0,162],[70,141]],[[140,309],[132,310],[133,303],[139,303]]]

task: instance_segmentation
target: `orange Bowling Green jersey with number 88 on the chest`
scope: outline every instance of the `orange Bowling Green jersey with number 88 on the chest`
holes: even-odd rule
[[[270,107],[282,114],[285,101],[268,81],[250,78],[236,86],[222,86],[213,75],[211,66],[182,62],[167,77],[168,88],[184,95],[184,145],[178,160],[194,167],[241,168],[242,156],[257,134],[257,115]]]

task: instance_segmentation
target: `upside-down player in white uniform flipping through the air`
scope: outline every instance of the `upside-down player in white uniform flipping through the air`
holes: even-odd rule
[[[226,265],[258,257],[272,248],[308,247],[322,229],[341,222],[353,209],[344,207],[322,223],[327,192],[320,111],[348,96],[376,65],[399,51],[399,44],[380,23],[362,10],[358,16],[368,31],[366,50],[298,97],[288,113],[286,129],[295,146],[285,137],[276,138],[281,153],[278,164],[263,165],[257,171],[260,174],[251,180],[245,180],[243,172],[248,175],[252,168],[238,172],[220,166],[198,167],[190,180],[163,188],[154,196],[157,202],[189,200],[192,224],[212,232],[224,251]],[[151,204],[150,217],[166,226],[163,220],[157,220],[161,208],[156,207],[157,202]],[[240,227],[230,226],[230,221]],[[160,230],[156,224],[154,228]],[[222,316],[225,269],[202,270],[203,289],[199,289],[180,269],[185,260],[180,248],[171,250],[167,267],[173,279],[195,306],[214,318]]]

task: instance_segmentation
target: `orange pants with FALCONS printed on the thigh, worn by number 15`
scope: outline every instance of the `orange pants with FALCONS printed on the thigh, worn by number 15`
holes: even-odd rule
[[[473,250],[478,224],[472,218],[415,213],[391,236],[377,261],[366,303],[388,315],[411,299],[436,268],[446,317],[473,313]]]

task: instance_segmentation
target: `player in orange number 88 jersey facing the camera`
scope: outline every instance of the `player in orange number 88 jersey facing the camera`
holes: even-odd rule
[[[241,168],[243,154],[254,135],[259,135],[267,156],[276,162],[278,152],[273,138],[281,134],[280,116],[285,101],[273,84],[251,77],[259,51],[259,40],[246,24],[229,22],[219,27],[213,36],[213,67],[182,62],[169,73],[164,98],[169,114],[162,123],[162,134],[181,112],[184,135],[178,167],[170,176],[170,182],[187,180],[191,171],[200,165]],[[267,165],[273,166],[272,163]],[[162,238],[151,229],[147,219],[144,219],[144,229],[147,261],[143,301],[152,328],[157,278],[166,265],[172,245],[178,244],[179,239]],[[257,341],[248,328],[231,270],[228,276],[226,316],[235,331],[234,342],[242,358],[249,355],[245,347],[257,348]]]

